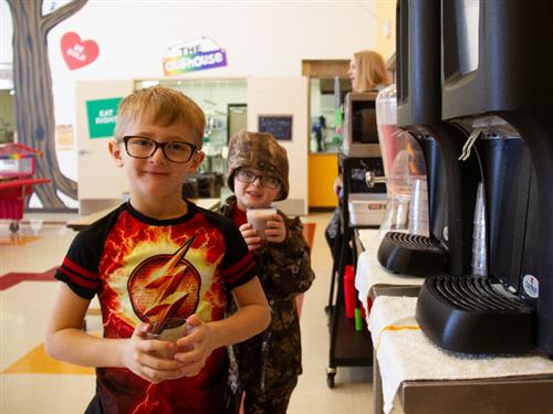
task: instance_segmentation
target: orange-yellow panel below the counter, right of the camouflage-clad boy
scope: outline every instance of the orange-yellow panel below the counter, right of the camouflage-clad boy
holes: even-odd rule
[[[334,208],[334,180],[338,174],[337,153],[310,153],[309,156],[309,206]]]

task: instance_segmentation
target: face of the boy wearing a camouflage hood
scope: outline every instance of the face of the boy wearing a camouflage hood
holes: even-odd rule
[[[260,179],[260,177],[263,178]],[[273,185],[274,182],[278,182],[276,187]],[[234,172],[234,194],[240,210],[268,208],[280,195],[280,182],[267,172],[250,167],[241,168]]]

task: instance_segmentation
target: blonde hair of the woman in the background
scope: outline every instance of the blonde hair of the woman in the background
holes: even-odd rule
[[[390,84],[384,57],[374,51],[361,51],[353,55],[355,62],[355,82],[352,85],[355,92],[372,91],[377,85]]]

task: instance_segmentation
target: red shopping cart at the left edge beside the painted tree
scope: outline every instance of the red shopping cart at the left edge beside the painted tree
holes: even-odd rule
[[[32,194],[33,185],[52,181],[33,178],[39,157],[42,157],[41,151],[21,144],[0,145],[0,219],[12,220],[12,233],[19,230],[25,197]]]

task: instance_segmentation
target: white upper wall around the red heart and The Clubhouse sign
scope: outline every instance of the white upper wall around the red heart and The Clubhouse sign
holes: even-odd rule
[[[11,61],[10,12],[0,2],[0,59]],[[228,66],[186,77],[298,76],[303,59],[349,59],[375,46],[374,10],[374,0],[90,0],[49,34],[56,124],[74,124],[75,81],[163,77],[167,49],[202,35],[227,50]],[[70,31],[100,45],[97,60],[75,71],[60,47]]]

